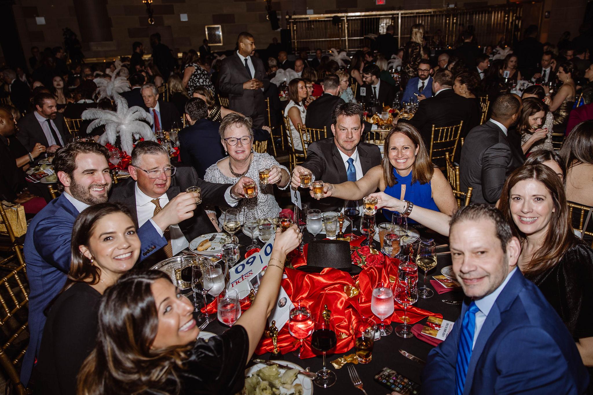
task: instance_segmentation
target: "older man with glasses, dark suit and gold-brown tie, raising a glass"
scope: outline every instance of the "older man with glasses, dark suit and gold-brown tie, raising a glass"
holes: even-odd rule
[[[136,226],[153,221],[167,240],[158,251],[142,251],[142,255],[152,253],[142,261],[143,268],[177,255],[200,235],[216,232],[205,205],[234,207],[244,196],[243,182],[251,180],[243,177],[235,185],[203,181],[192,167],[172,166],[167,149],[151,141],[136,144],[128,171],[131,178],[117,184],[109,200],[127,205]],[[186,192],[194,185],[202,188],[197,207],[196,195]],[[171,217],[179,221],[171,224]]]

